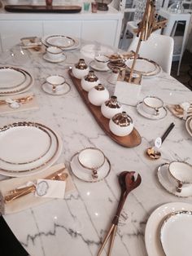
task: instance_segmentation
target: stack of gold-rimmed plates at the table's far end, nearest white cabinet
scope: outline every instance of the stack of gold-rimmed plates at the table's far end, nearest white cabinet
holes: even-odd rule
[[[63,50],[74,50],[80,46],[80,42],[76,38],[70,38],[65,35],[48,35],[41,38],[41,42],[45,46],[57,46]]]

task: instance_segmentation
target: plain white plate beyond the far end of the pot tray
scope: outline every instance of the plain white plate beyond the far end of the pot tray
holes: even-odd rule
[[[81,53],[88,58],[94,59],[95,55],[104,54],[111,55],[114,53],[110,46],[101,46],[99,43],[87,44],[81,47]]]

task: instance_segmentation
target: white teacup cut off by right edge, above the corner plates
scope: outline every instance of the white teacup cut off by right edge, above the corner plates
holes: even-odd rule
[[[177,182],[177,192],[182,188],[192,186],[192,166],[184,161],[172,161],[168,165],[168,172]]]

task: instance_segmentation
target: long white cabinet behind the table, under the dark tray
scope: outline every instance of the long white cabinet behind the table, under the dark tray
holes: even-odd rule
[[[118,46],[123,15],[113,7],[109,11],[73,14],[14,13],[0,9],[2,51],[28,36],[66,34],[85,40]]]

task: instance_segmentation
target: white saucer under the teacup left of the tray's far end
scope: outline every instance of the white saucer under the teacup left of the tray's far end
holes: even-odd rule
[[[52,86],[47,82],[44,82],[41,85],[41,88],[49,95],[66,95],[69,90],[71,90],[71,86],[69,86],[67,82],[63,83],[63,85],[61,86],[58,86],[58,89],[56,89],[55,91],[52,90]]]

